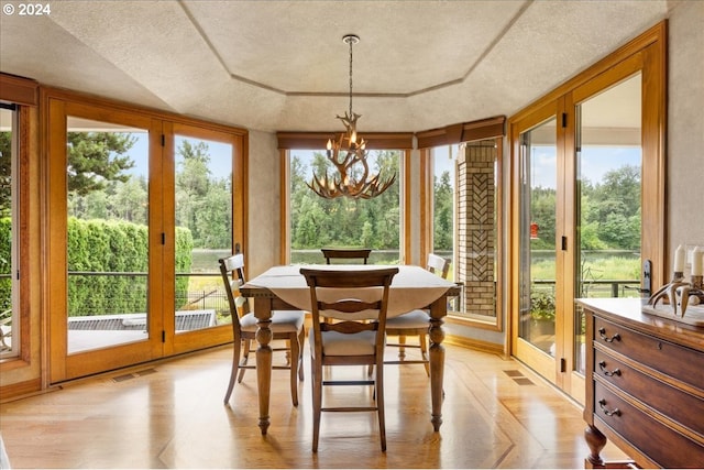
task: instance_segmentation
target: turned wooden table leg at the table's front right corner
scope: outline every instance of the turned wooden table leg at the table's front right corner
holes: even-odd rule
[[[432,415],[430,422],[436,431],[442,424],[442,383],[444,379],[444,330],[442,317],[448,313],[447,297],[443,295],[430,305],[430,395],[432,401]]]

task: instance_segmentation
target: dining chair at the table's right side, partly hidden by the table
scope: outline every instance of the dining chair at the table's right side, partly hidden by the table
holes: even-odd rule
[[[437,254],[428,254],[426,269],[431,273],[436,273],[442,278],[448,277],[450,271],[450,262]],[[393,317],[386,320],[386,336],[398,337],[398,342],[387,342],[386,346],[398,348],[398,360],[384,361],[385,364],[424,364],[426,374],[430,376],[430,362],[428,360],[428,328],[429,316],[426,310],[416,309],[408,314]],[[417,345],[407,345],[406,338],[409,336],[418,337]],[[420,349],[421,359],[406,359],[406,348]],[[370,372],[371,373],[371,372]]]

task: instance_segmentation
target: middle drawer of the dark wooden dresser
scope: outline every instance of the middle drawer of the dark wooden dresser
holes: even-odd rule
[[[594,353],[594,378],[704,436],[704,400],[701,397],[646,375],[602,351]]]

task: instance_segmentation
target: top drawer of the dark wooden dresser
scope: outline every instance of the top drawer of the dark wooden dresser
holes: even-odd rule
[[[594,343],[704,390],[704,353],[594,318]],[[700,367],[693,367],[701,364]]]

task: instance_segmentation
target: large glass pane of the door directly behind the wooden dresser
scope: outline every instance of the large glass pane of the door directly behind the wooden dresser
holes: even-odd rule
[[[575,298],[648,294],[640,285],[641,79],[635,74],[575,107]],[[583,374],[584,317],[578,305],[574,327],[575,370]]]

